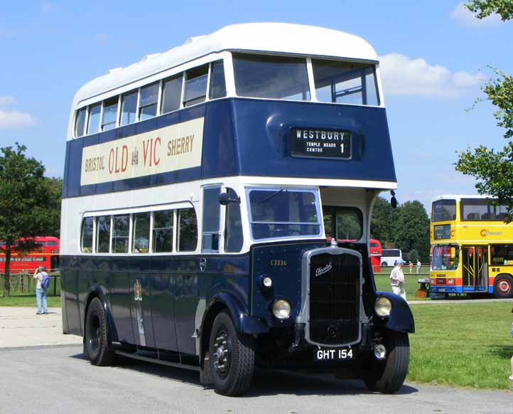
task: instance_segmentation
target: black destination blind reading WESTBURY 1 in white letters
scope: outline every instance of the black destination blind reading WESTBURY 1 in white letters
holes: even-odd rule
[[[291,156],[351,158],[351,134],[326,129],[290,129]]]

